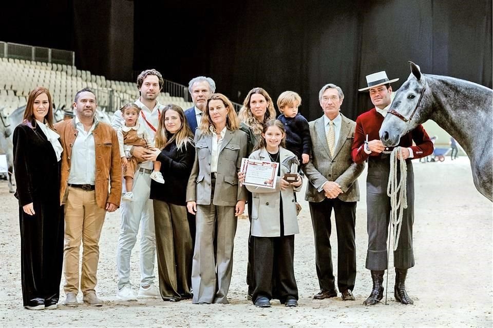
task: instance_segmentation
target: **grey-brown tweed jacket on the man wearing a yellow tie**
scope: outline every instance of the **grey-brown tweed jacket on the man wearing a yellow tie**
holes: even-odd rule
[[[354,140],[356,123],[343,114],[339,139],[335,146],[334,155],[329,152],[325,134],[324,116],[309,123],[312,140],[312,156],[303,167],[310,184],[307,187],[305,199],[320,202],[326,199],[324,191],[318,191],[326,181],[335,181],[343,193],[337,198],[342,201],[358,201],[358,176],[363,172],[365,163],[356,164],[351,159],[351,146]]]

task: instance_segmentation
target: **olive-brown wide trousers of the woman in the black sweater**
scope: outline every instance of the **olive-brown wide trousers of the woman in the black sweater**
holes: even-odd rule
[[[153,204],[161,297],[189,298],[193,249],[186,207],[156,199]]]

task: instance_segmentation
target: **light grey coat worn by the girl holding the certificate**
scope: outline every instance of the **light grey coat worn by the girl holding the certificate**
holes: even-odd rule
[[[296,203],[294,192],[301,190],[301,186],[293,188],[288,187],[281,190],[280,180],[290,172],[290,167],[282,165],[282,162],[288,157],[296,157],[295,154],[287,149],[279,147],[279,156],[281,162],[281,175],[277,177],[276,189],[265,187],[246,186],[253,194],[252,207],[252,236],[256,237],[279,237],[280,228],[280,197],[282,197],[282,219],[284,222],[284,235],[294,235],[299,233],[298,219],[296,218]],[[269,153],[265,148],[254,151],[251,159],[271,161]],[[295,173],[295,172],[292,172]]]

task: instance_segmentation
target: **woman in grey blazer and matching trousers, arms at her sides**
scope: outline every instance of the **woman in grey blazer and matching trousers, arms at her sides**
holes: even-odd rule
[[[228,303],[236,217],[247,200],[247,190],[238,186],[237,176],[247,154],[247,134],[238,127],[231,101],[213,94],[195,133],[195,162],[186,189],[188,212],[197,215],[194,304]]]

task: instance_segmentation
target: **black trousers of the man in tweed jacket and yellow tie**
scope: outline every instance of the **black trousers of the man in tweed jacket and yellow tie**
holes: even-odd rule
[[[330,234],[332,209],[337,230],[337,287],[340,292],[354,289],[356,280],[356,202],[326,198],[321,202],[309,202],[315,238],[315,265],[320,290],[335,289],[332,266]]]

